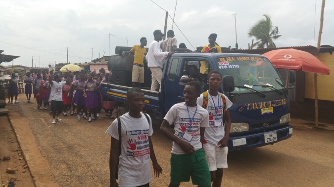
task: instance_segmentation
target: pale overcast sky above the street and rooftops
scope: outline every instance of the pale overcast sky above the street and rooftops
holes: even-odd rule
[[[171,17],[176,0],[153,0]],[[322,0],[178,0],[173,30],[178,44],[187,47],[207,44],[211,33],[218,34],[222,47],[247,49],[249,29],[263,14],[271,16],[282,37],[277,47],[317,45]],[[151,0],[1,0],[0,50],[20,56],[14,65],[31,67],[34,56],[37,67],[49,62],[66,63],[66,47],[70,63],[91,62],[103,54],[111,55],[115,46],[133,46],[153,31],[163,32],[166,12]],[[334,45],[334,0],[327,0],[321,44]],[[172,29],[168,18],[167,30]],[[127,38],[127,39],[126,39]],[[127,43],[128,40],[128,43]],[[254,41],[255,42],[255,41]],[[193,47],[192,47],[192,46]],[[2,54],[3,54],[2,53]],[[11,65],[2,63],[1,65]]]

